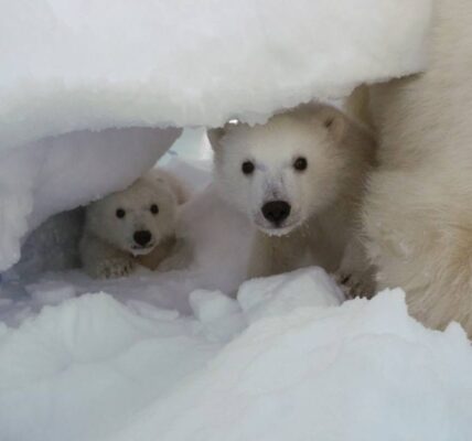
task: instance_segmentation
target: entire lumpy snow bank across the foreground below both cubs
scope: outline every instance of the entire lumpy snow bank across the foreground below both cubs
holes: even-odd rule
[[[0,438],[469,441],[462,330],[426,330],[399,290],[339,303],[309,268],[194,292],[195,318],[104,293],[45,306],[0,329]]]

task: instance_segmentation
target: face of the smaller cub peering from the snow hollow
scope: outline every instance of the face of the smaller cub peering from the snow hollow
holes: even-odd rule
[[[146,255],[174,233],[176,202],[165,186],[138,180],[129,189],[94,202],[87,227],[115,247]]]

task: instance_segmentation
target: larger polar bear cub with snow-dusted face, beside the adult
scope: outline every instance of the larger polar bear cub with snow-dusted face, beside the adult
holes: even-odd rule
[[[336,272],[350,294],[372,292],[357,234],[376,150],[367,129],[310,104],[265,125],[227,123],[208,139],[217,187],[257,227],[248,277],[318,265]]]

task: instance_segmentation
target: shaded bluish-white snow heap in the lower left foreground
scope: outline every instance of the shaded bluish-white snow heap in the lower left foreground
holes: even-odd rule
[[[193,335],[191,324],[141,318],[109,295],[94,294],[45,308],[7,331],[1,439],[82,441],[110,433],[203,367],[214,345]]]

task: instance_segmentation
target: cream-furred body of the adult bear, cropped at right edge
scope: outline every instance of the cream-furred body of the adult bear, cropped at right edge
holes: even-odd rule
[[[371,89],[379,169],[364,209],[379,288],[472,336],[472,1],[437,0],[425,74]]]

